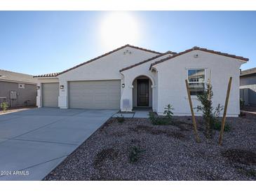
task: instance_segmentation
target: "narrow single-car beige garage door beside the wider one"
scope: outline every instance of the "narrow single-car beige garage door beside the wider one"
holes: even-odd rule
[[[43,83],[43,107],[58,107],[59,83]]]

